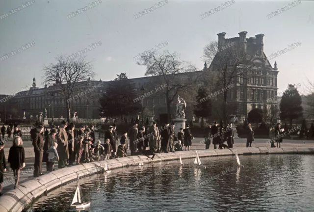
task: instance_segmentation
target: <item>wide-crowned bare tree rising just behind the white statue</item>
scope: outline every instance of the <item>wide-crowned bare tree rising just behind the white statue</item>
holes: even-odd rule
[[[184,61],[178,60],[177,53],[164,51],[162,54],[156,52],[141,56],[138,65],[145,65],[145,76],[158,76],[156,78],[160,84],[165,84],[166,88],[162,90],[167,104],[168,121],[171,121],[171,104],[181,95],[191,91],[191,85],[198,79],[199,74],[196,67],[189,65]],[[194,72],[188,73],[188,72]],[[184,99],[184,98],[183,98]]]

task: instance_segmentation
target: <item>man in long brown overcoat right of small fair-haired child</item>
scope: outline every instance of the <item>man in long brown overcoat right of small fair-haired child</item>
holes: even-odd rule
[[[57,133],[57,152],[59,155],[58,168],[64,168],[69,159],[68,135],[65,128],[68,126],[66,121],[61,122]]]

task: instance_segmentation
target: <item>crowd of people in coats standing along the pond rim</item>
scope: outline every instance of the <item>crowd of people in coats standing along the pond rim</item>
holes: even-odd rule
[[[43,175],[42,162],[46,162],[47,171],[54,170],[54,164],[57,162],[58,168],[90,162],[94,160],[114,159],[128,157],[128,147],[130,155],[152,156],[154,159],[156,153],[169,153],[175,151],[189,151],[192,145],[192,136],[189,125],[185,129],[180,129],[175,133],[175,125],[169,125],[166,122],[162,127],[157,127],[153,122],[147,129],[145,126],[138,127],[139,122],[135,122],[128,132],[124,132],[120,138],[120,145],[117,147],[118,133],[117,126],[114,124],[105,132],[104,143],[95,138],[94,126],[80,126],[75,133],[75,125],[62,121],[60,126],[52,126],[50,131],[39,122],[36,122],[30,131],[32,145],[34,147],[35,161],[33,176]],[[12,133],[12,129],[14,129]],[[251,124],[247,124],[247,142],[246,147],[252,147],[254,141],[254,131]],[[280,123],[270,128],[271,147],[280,147],[283,140],[278,136],[283,133]],[[20,170],[25,167],[25,151],[23,148],[22,132],[14,124],[8,125],[7,128],[1,127],[1,135],[7,132],[10,138],[13,134],[13,145],[9,150],[8,163],[13,170],[15,186],[18,185]],[[75,135],[76,134],[76,135]],[[275,137],[280,137],[275,139]],[[226,144],[227,143],[227,144]],[[217,122],[209,124],[205,129],[205,149],[209,149],[210,144],[214,149],[233,148],[234,132],[232,123],[227,126],[218,126]],[[279,145],[279,146],[278,146]],[[0,141],[0,183],[3,182],[3,172],[6,171],[6,160],[4,156],[4,142]],[[0,186],[0,195],[2,184]]]

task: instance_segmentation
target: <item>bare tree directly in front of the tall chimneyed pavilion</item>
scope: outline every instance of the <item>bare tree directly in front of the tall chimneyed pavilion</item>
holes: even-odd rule
[[[227,94],[230,90],[228,86],[244,84],[247,71],[251,67],[241,43],[226,46],[221,47],[217,41],[212,41],[204,48],[204,58],[210,64],[209,71],[217,74],[216,85],[223,90],[222,114],[225,123],[228,116]]]

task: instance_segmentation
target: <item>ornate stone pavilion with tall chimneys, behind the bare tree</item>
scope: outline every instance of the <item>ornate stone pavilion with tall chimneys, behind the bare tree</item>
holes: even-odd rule
[[[234,45],[238,43],[244,48],[247,58],[252,67],[247,72],[247,76],[238,78],[236,85],[228,92],[227,101],[235,104],[234,115],[239,118],[247,117],[250,110],[261,108],[269,110],[270,107],[277,107],[277,76],[278,69],[276,62],[274,67],[270,64],[263,51],[263,34],[246,38],[246,31],[239,32],[239,37],[225,38],[226,33],[218,35],[218,48]],[[228,46],[228,44],[231,44]],[[212,61],[212,63],[214,60]],[[208,68],[210,71],[210,66]]]

